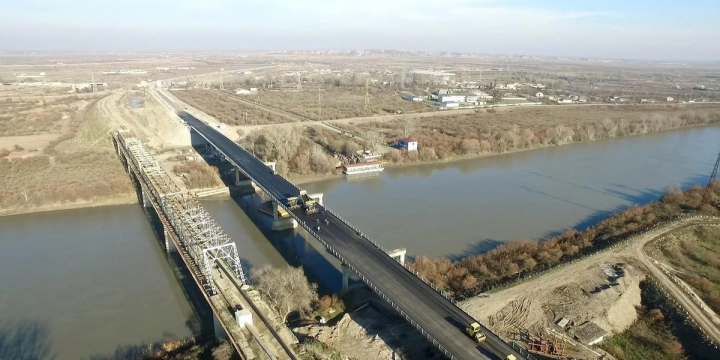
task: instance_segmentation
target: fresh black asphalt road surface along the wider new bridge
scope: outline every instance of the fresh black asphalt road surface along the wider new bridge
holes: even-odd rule
[[[299,196],[299,190],[293,184],[273,175],[265,164],[211,126],[184,111],[178,111],[178,115],[275,198],[282,201],[290,196]],[[500,360],[513,354],[518,359],[524,359],[484,327],[483,331],[487,335],[485,342],[478,344],[470,339],[465,335],[464,328],[475,322],[473,318],[329,212],[323,209],[319,213],[305,215],[301,210],[294,210],[293,214],[313,228],[319,225],[321,230],[318,235],[322,240],[452,353],[454,358]],[[320,224],[317,223],[318,219],[322,220]],[[325,224],[325,219],[329,224]]]

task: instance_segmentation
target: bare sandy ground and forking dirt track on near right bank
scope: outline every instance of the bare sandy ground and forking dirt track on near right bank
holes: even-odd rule
[[[557,268],[487,297],[466,300],[462,306],[476,319],[508,336],[519,329],[543,332],[560,316],[567,316],[576,324],[593,321],[606,331],[619,332],[637,317],[634,306],[640,304],[639,281],[644,274],[650,274],[720,343],[720,329],[643,250],[648,242],[680,228],[717,223],[720,219],[680,220],[627,245]],[[602,266],[608,264],[624,264],[625,276],[617,281],[617,286],[589,295],[589,289],[607,282]]]

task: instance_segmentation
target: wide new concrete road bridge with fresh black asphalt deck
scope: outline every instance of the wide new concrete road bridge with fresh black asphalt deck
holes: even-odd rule
[[[301,197],[304,193],[299,187],[203,121],[182,110],[178,110],[178,115],[238,172],[267,194],[274,202],[273,207],[290,215],[281,218],[276,212],[274,228],[283,228],[279,222],[284,222],[287,228],[302,226],[340,259],[344,269],[357,275],[448,358],[505,359],[508,355],[526,358],[526,353],[521,355],[516,344],[508,344],[485,327],[482,327],[487,335],[485,342],[478,344],[470,339],[464,334],[464,328],[476,320],[446,293],[423,281],[407,269],[399,261],[401,259],[391,257],[381,245],[327,206],[318,205],[320,211],[310,215],[301,209],[288,208],[288,198]],[[404,260],[404,256],[402,258]]]

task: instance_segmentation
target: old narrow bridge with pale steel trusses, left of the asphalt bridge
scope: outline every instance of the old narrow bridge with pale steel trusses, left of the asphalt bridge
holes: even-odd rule
[[[178,188],[131,131],[120,129],[112,138],[140,202],[157,217],[166,250],[180,255],[210,305],[215,335],[227,337],[246,360],[295,360],[284,340],[292,341],[292,334],[281,337],[275,330],[281,324],[272,324],[246,292],[247,279],[232,239],[193,194]],[[254,318],[261,322],[253,323]],[[255,353],[256,345],[267,356]]]

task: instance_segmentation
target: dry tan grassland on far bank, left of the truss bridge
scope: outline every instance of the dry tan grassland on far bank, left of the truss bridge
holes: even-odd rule
[[[69,119],[67,132],[41,152],[0,159],[0,209],[132,194],[132,184],[107,138],[95,105]]]

